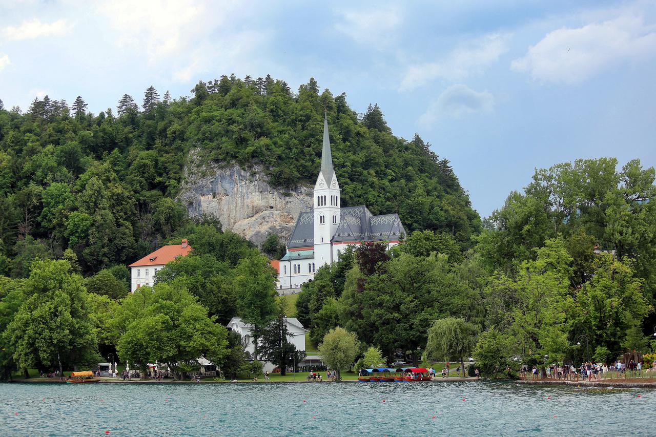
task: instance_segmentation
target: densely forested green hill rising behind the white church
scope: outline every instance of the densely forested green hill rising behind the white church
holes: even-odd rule
[[[407,230],[445,232],[472,245],[480,218],[447,159],[419,137],[392,135],[378,106],[359,116],[346,95],[293,93],[283,81],[223,76],[192,97],[154,87],[117,114],[77,97],[35,99],[28,112],[0,101],[0,275],[25,277],[35,257],[77,258],[83,272],[129,264],[188,225],[174,199],[190,149],[222,163],[262,164],[282,189],[313,184],[327,110],[342,204],[398,211]]]

